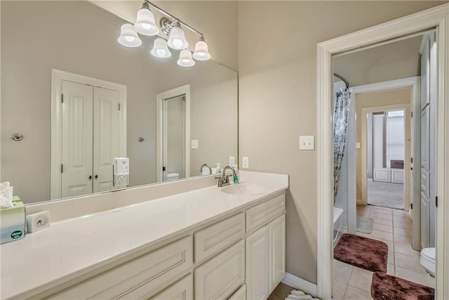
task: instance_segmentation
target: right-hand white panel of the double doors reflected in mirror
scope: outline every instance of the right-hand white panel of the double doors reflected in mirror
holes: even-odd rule
[[[93,193],[114,190],[114,157],[119,156],[119,91],[93,88]]]

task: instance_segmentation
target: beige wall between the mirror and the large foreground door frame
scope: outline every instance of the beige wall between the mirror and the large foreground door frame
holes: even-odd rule
[[[436,1],[240,1],[239,156],[290,175],[287,272],[316,282],[316,44],[443,4]],[[240,162],[241,164],[241,162]]]

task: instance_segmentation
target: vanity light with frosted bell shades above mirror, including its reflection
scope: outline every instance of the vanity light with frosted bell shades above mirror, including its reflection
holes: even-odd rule
[[[152,6],[152,9],[154,8],[156,11],[159,11],[159,13],[165,15],[159,20],[160,27],[156,25],[154,14],[149,9],[149,6]],[[187,49],[189,42],[185,39],[185,32],[182,30],[181,25],[195,34],[199,34],[199,41],[195,45],[193,58],[192,51]],[[159,34],[159,30],[162,32],[161,34]],[[154,39],[153,48],[150,51],[152,56],[156,56],[157,58],[170,57],[171,53],[170,50],[168,50],[168,47],[170,47],[175,50],[181,50],[177,64],[182,67],[191,67],[192,65],[195,65],[194,58],[196,60],[210,59],[208,44],[204,41],[201,32],[177,19],[174,15],[170,15],[170,13],[163,11],[163,9],[152,4],[148,0],[143,0],[142,8],[138,11],[134,25],[130,23],[121,25],[120,36],[117,41],[123,46],[138,47],[142,45],[142,40],[140,40],[138,33],[148,36],[159,36]]]

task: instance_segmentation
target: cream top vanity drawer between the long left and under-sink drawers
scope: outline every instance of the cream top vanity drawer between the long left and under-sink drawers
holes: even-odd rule
[[[194,234],[195,263],[208,259],[245,235],[245,213],[236,214]]]

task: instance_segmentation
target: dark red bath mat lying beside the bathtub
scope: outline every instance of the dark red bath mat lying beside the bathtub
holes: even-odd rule
[[[388,246],[384,242],[344,233],[334,248],[334,258],[352,266],[387,273]]]

